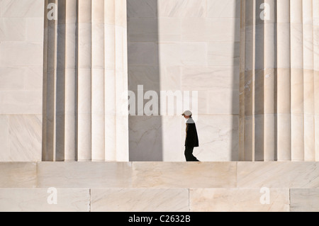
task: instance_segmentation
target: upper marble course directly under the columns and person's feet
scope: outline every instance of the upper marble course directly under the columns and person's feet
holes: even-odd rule
[[[319,162],[0,162],[0,188],[319,188]]]

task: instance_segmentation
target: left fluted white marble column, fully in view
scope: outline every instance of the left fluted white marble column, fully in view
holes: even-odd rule
[[[128,161],[126,1],[48,4],[43,161]]]

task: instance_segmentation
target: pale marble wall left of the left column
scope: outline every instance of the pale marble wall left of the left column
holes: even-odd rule
[[[43,0],[0,0],[0,162],[41,160]]]

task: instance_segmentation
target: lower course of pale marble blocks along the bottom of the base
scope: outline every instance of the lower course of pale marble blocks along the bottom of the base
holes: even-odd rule
[[[259,188],[0,188],[0,211],[319,211],[319,189],[269,188],[267,192]],[[56,199],[51,196],[53,193]]]

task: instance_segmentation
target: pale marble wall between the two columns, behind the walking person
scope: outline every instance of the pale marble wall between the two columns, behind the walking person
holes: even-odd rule
[[[129,89],[198,91],[203,162],[238,159],[239,33],[238,0],[128,0]],[[180,115],[130,116],[130,160],[184,162]]]

